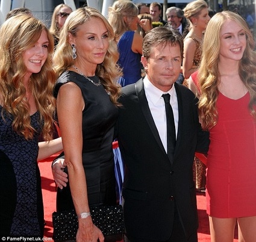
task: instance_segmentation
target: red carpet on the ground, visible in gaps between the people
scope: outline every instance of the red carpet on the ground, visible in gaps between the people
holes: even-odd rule
[[[52,212],[55,211],[55,183],[52,178],[51,163],[54,157],[39,162],[40,173],[42,177],[42,188],[43,188],[43,204],[45,208],[45,237],[52,238]],[[199,229],[198,229],[198,241],[209,241],[210,242],[210,230],[208,216],[206,214],[205,195],[204,193],[198,193],[198,216],[199,216]],[[234,242],[237,240],[237,229],[235,234]]]

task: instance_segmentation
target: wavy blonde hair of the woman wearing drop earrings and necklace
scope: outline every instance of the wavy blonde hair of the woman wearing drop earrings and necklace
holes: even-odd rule
[[[110,99],[115,105],[119,105],[117,99],[120,96],[120,87],[117,84],[117,79],[122,75],[117,60],[119,52],[117,51],[116,42],[114,42],[113,28],[108,23],[107,19],[99,13],[98,10],[90,7],[81,7],[73,11],[63,25],[60,41],[55,50],[53,61],[57,75],[60,76],[65,70],[73,64],[72,46],[69,43],[69,33],[76,35],[78,27],[83,23],[88,22],[93,17],[101,19],[108,30],[108,50],[105,55],[104,63],[98,64],[96,67],[96,75],[101,79],[105,90],[110,93]]]

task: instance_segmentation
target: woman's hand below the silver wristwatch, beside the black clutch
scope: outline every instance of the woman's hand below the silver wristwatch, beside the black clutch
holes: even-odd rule
[[[104,242],[104,235],[101,230],[95,226],[91,217],[86,219],[78,219],[79,228],[76,234],[76,241],[84,242]]]

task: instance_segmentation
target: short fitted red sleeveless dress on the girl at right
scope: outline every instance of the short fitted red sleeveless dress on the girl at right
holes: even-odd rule
[[[218,218],[256,216],[256,120],[249,92],[240,99],[219,93],[217,125],[210,129],[207,213]]]

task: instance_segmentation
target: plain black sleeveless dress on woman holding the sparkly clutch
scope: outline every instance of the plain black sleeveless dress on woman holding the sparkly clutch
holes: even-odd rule
[[[97,76],[90,76],[98,83]],[[103,85],[96,86],[84,76],[67,71],[58,78],[55,97],[61,85],[74,82],[80,87],[86,107],[83,110],[83,166],[86,173],[89,206],[116,204],[113,135],[118,109]],[[68,117],[67,117],[68,118]],[[68,171],[67,171],[68,172]],[[73,209],[69,184],[57,190],[57,211]]]

